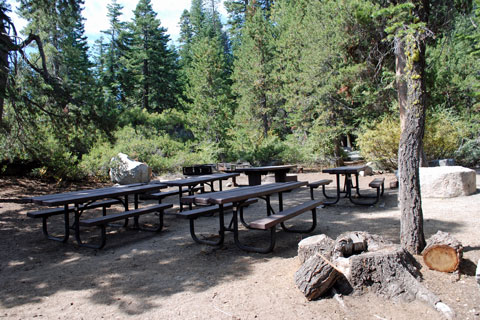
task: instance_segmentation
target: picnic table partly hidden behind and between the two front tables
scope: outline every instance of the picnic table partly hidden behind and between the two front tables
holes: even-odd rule
[[[230,178],[235,178],[239,176],[240,173],[213,173],[204,176],[195,176],[195,177],[188,177],[185,179],[178,179],[178,180],[168,180],[168,181],[160,181],[159,183],[168,187],[178,187],[178,192],[174,192],[178,194],[179,203],[180,203],[180,211],[183,211],[183,203],[181,201],[184,194],[192,195],[197,187],[200,186],[200,189],[205,192],[204,185],[208,185],[210,187],[211,192],[215,192],[214,183],[218,181],[218,188],[220,191],[223,190],[222,188],[222,181],[228,180]],[[186,187],[186,189],[184,188]],[[161,194],[161,193],[160,193]],[[165,194],[165,193],[164,193]]]

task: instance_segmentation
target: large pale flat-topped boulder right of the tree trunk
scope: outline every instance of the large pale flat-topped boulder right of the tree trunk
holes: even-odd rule
[[[476,191],[476,173],[460,166],[420,168],[420,189],[425,198],[468,196]]]

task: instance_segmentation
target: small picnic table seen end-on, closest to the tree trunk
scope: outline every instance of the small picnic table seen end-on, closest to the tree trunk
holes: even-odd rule
[[[340,198],[341,194],[345,194],[345,198],[348,198],[352,203],[354,204],[359,204],[359,205],[373,205],[378,202],[379,198],[381,195],[383,195],[384,192],[384,178],[376,178],[373,181],[370,182],[369,186],[372,188],[375,188],[377,190],[377,194],[374,198],[373,201],[364,201],[364,200],[356,200],[352,196],[352,189],[355,189],[356,192],[356,197],[361,199],[366,199],[366,198],[372,198],[371,196],[366,196],[362,195],[360,193],[360,186],[358,183],[358,176],[361,171],[364,171],[366,169],[365,165],[357,165],[357,166],[341,166],[341,167],[335,167],[335,168],[329,168],[329,169],[323,169],[323,173],[329,173],[329,174],[334,174],[336,176],[336,183],[337,183],[337,193],[335,197],[327,195],[325,191],[325,186],[330,184],[332,180],[330,179],[323,179],[320,181],[315,181],[309,184],[310,187],[310,194],[311,198],[313,199],[313,189],[316,189],[318,187],[322,187],[322,192],[325,198],[327,199],[335,199],[333,201],[324,201],[323,204],[325,205],[331,205],[331,204],[336,204]],[[343,184],[343,189],[340,184],[340,176],[343,175],[345,176],[345,182]],[[352,175],[355,176],[355,185],[353,184],[352,180]]]

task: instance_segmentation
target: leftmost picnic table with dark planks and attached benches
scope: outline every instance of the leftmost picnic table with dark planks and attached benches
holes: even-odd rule
[[[168,204],[158,204],[139,208],[138,197],[145,192],[154,192],[166,188],[162,184],[131,184],[98,189],[79,190],[66,193],[48,194],[26,199],[29,202],[41,205],[51,206],[45,210],[28,212],[27,216],[32,218],[42,218],[42,230],[47,239],[67,242],[70,236],[70,229],[75,232],[75,238],[80,246],[91,248],[102,248],[106,242],[106,226],[116,220],[125,220],[124,226],[128,224],[128,218],[134,218],[134,228],[148,231],[160,231],[163,227],[163,212],[172,207]],[[134,209],[129,209],[129,196],[133,195]],[[114,204],[122,204],[125,211],[120,213],[107,214],[107,208]],[[89,219],[81,219],[85,210],[102,208],[102,216]],[[74,213],[74,223],[70,226],[70,213]],[[139,216],[146,213],[159,213],[159,226],[155,229],[141,227]],[[54,215],[63,215],[64,234],[62,237],[52,236],[48,232],[47,220]],[[80,227],[99,227],[101,230],[100,244],[83,243],[80,235]]]

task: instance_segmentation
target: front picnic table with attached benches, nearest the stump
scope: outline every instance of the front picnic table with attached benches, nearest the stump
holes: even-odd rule
[[[316,211],[315,208],[321,205],[319,200],[310,200],[300,205],[284,209],[283,193],[293,191],[297,188],[307,185],[307,182],[285,182],[285,183],[271,183],[257,186],[234,188],[226,191],[219,191],[205,194],[195,194],[187,197],[186,200],[198,205],[209,205],[213,210],[218,212],[219,231],[217,240],[200,239],[195,233],[195,219],[201,216],[199,211],[189,210],[179,212],[178,217],[187,218],[190,220],[190,234],[194,241],[201,244],[208,245],[222,245],[225,239],[225,231],[232,231],[234,234],[235,244],[242,250],[250,252],[267,253],[273,250],[275,246],[276,226],[281,225],[282,229],[289,232],[308,233],[316,227]],[[275,212],[271,205],[271,196],[278,195],[278,211]],[[245,222],[243,215],[243,208],[251,204],[254,199],[262,199],[266,202],[267,214],[265,218],[257,219],[249,223]],[[228,226],[225,226],[224,211],[229,207],[233,209],[232,220]],[[291,229],[285,226],[284,222],[304,213],[306,211],[312,212],[312,225],[305,230]],[[205,210],[204,210],[205,211]],[[209,213],[211,211],[208,211]],[[270,243],[267,247],[252,247],[244,244],[239,238],[239,221],[247,229],[266,230],[270,231]]]

